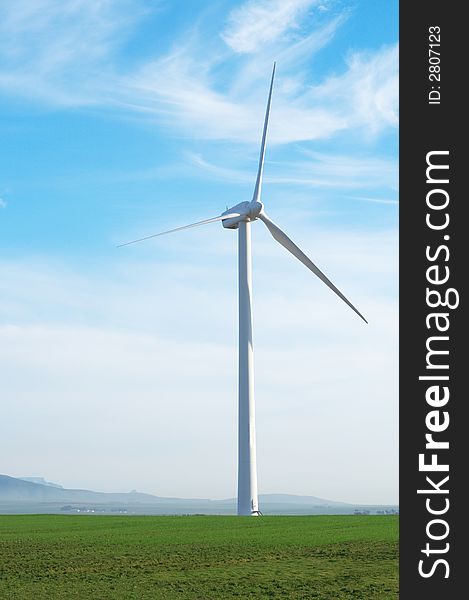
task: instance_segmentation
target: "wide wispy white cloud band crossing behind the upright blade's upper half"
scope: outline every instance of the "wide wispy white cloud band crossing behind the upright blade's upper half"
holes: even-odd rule
[[[249,69],[248,62],[233,73],[230,89],[220,92],[213,75],[217,62],[200,69],[198,46],[193,44],[192,40],[146,65],[126,81],[124,89],[132,90],[132,108],[146,116],[153,114],[166,126],[199,139],[257,141],[271,62],[263,61],[262,73],[258,65]],[[302,51],[309,54],[311,48]],[[279,63],[270,142],[327,139],[353,130],[364,132],[362,139],[366,141],[370,135],[396,127],[397,55],[397,46],[366,55],[355,53],[343,74],[315,85],[295,83],[288,63],[285,71]],[[122,101],[127,101],[125,94]]]

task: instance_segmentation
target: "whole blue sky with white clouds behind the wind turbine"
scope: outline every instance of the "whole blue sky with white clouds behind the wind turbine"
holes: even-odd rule
[[[229,497],[236,234],[253,227],[260,492],[397,500],[397,2],[0,6],[0,470]],[[282,440],[279,443],[279,440]]]

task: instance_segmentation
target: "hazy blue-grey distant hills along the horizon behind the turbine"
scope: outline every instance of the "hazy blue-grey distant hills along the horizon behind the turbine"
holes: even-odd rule
[[[42,483],[44,482],[44,483]],[[315,496],[261,494],[265,514],[352,514],[357,510],[395,510],[395,506],[364,507]],[[127,514],[234,514],[236,499],[166,498],[142,492],[109,493],[67,489],[41,477],[0,475],[0,513],[101,512]],[[382,512],[382,511],[381,511]]]

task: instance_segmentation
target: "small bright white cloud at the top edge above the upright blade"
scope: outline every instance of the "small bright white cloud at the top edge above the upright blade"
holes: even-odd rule
[[[248,0],[235,8],[222,33],[235,52],[250,53],[270,44],[292,28],[318,0]]]

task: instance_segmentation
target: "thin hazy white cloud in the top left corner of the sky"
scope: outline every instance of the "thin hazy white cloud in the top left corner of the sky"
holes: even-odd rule
[[[113,56],[144,14],[140,0],[0,4],[0,89],[49,104],[103,101]]]

